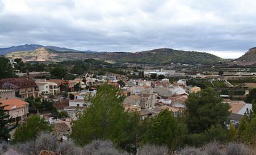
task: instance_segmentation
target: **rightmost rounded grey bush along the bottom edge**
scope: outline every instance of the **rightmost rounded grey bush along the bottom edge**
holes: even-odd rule
[[[249,148],[244,144],[229,143],[226,149],[227,155],[247,155],[249,154]]]

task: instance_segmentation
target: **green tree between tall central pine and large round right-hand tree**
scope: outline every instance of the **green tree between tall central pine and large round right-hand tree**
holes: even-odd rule
[[[165,109],[157,116],[150,118],[145,134],[142,138],[144,143],[172,148],[175,138],[177,120],[172,112]]]

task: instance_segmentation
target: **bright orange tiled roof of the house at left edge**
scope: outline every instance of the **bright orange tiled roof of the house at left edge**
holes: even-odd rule
[[[26,101],[19,100],[17,98],[11,98],[8,100],[1,100],[4,110],[12,110],[16,108],[22,108],[23,106],[29,105]]]

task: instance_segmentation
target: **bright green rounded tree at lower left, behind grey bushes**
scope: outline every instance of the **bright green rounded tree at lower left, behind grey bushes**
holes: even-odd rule
[[[40,118],[38,115],[29,116],[27,121],[16,129],[12,142],[31,141],[35,139],[41,131],[51,132],[52,126],[50,126],[44,118]]]

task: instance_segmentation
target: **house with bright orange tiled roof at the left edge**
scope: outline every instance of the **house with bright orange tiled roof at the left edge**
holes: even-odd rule
[[[4,106],[6,113],[10,116],[10,118],[12,118],[11,123],[26,120],[27,115],[29,114],[29,103],[17,98],[1,100],[1,103],[1,106]]]

